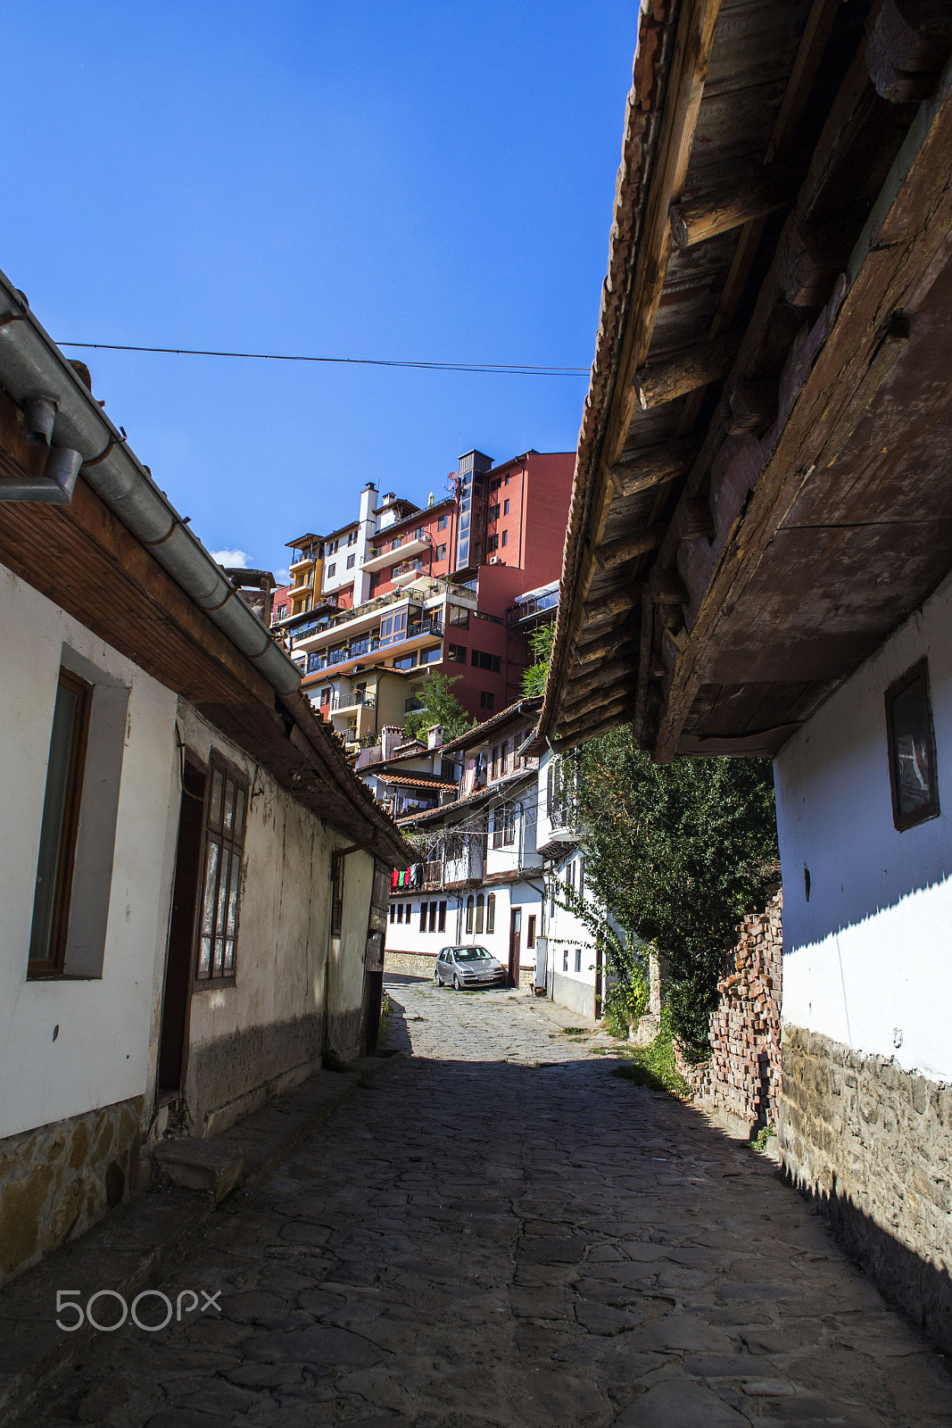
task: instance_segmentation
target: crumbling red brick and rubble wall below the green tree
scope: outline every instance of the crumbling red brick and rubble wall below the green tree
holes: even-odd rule
[[[675,1051],[695,1100],[748,1135],[779,1115],[782,910],[778,891],[764,912],[744,918],[726,950],[708,1027],[709,1060],[691,1065]]]

